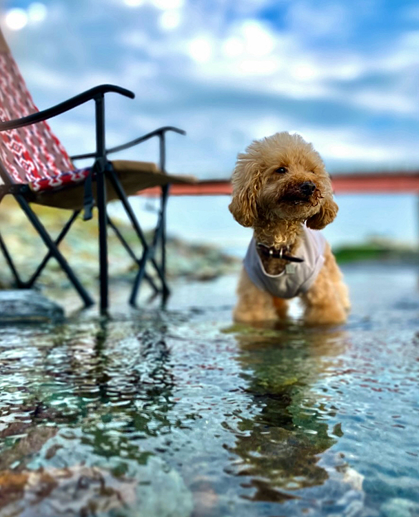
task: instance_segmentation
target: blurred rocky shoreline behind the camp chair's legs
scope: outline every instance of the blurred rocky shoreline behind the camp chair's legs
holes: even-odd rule
[[[70,215],[64,210],[34,206],[45,227],[52,236],[57,235]],[[117,221],[121,233],[130,245],[141,256],[141,246],[137,245],[136,234],[123,221]],[[34,232],[23,212],[12,199],[5,198],[1,210],[1,234],[12,252],[17,269],[23,278],[28,278],[36,269],[46,248],[39,236]],[[146,235],[151,239],[151,234]],[[110,276],[114,278],[131,278],[136,265],[127,254],[112,230],[108,230]],[[84,285],[90,286],[99,277],[98,239],[96,217],[91,221],[83,221],[81,216],[75,221],[68,236],[60,245],[66,259],[73,267]],[[0,254],[0,285],[3,289],[13,287],[13,278]],[[223,274],[238,270],[240,259],[229,256],[211,245],[191,244],[168,237],[167,239],[167,276],[185,278],[192,281],[208,281]],[[40,287],[70,287],[65,274],[52,259],[39,278]]]

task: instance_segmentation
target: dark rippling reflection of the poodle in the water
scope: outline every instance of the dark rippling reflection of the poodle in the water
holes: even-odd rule
[[[336,423],[329,427],[336,407],[321,379],[347,347],[347,334],[295,325],[276,332],[255,328],[236,339],[243,389],[252,396],[247,409],[254,416],[241,418],[234,429],[236,443],[229,451],[236,460],[229,472],[243,476],[244,497],[283,502],[294,498],[296,489],[329,478],[318,455],[342,431]]]

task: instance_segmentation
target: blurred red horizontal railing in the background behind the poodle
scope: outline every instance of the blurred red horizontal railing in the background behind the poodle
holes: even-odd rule
[[[332,176],[336,194],[408,193],[419,194],[419,170],[365,174],[336,174]],[[142,196],[158,196],[159,187],[142,190]],[[232,185],[229,180],[202,180],[194,185],[172,185],[171,196],[229,196]]]

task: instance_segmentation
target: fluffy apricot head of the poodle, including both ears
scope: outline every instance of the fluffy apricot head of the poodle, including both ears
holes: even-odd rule
[[[320,155],[298,134],[252,142],[238,155],[232,183],[229,210],[243,226],[283,219],[319,230],[338,212]]]

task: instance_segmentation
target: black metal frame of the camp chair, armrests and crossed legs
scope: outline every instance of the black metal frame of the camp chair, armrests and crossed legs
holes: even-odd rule
[[[166,300],[167,296],[170,294],[169,287],[167,287],[166,281],[166,256],[165,256],[165,245],[166,245],[166,206],[167,199],[169,195],[169,185],[161,186],[161,203],[159,208],[159,214],[157,218],[156,228],[154,230],[154,234],[152,236],[152,242],[147,243],[143,230],[141,230],[141,225],[139,224],[134,211],[132,210],[132,206],[130,205],[130,201],[127,199],[127,195],[123,190],[123,186],[119,181],[118,176],[116,175],[114,169],[112,168],[112,163],[108,161],[108,154],[112,154],[114,152],[122,151],[127,148],[131,148],[134,145],[137,145],[143,141],[151,139],[154,136],[159,137],[159,166],[161,172],[165,173],[165,134],[168,131],[173,131],[179,134],[186,134],[185,131],[180,130],[178,128],[174,128],[172,126],[165,126],[163,128],[159,128],[155,131],[147,133],[143,136],[140,136],[137,139],[124,143],[123,145],[118,145],[114,148],[106,149],[105,148],[105,93],[115,92],[125,97],[129,97],[130,99],[134,99],[134,93],[130,90],[125,90],[125,88],[121,88],[116,85],[99,85],[95,88],[91,88],[67,101],[59,103],[52,108],[48,108],[47,110],[43,110],[40,112],[36,112],[34,114],[24,116],[21,119],[15,119],[12,121],[1,121],[0,122],[0,132],[6,130],[12,130],[16,128],[21,128],[25,125],[31,125],[37,122],[45,121],[50,119],[53,116],[57,116],[63,112],[67,112],[76,106],[79,106],[87,101],[94,100],[95,103],[95,122],[96,122],[96,152],[89,154],[78,154],[76,156],[72,156],[73,160],[77,159],[94,159],[94,165],[90,170],[90,174],[85,180],[85,193],[83,200],[83,210],[84,210],[84,218],[85,220],[91,219],[92,217],[92,207],[94,205],[94,199],[92,196],[92,181],[93,175],[95,175],[96,183],[97,183],[97,199],[96,205],[99,212],[99,284],[100,284],[100,309],[101,312],[106,312],[109,305],[109,277],[108,277],[108,242],[107,242],[107,227],[110,226],[112,230],[115,232],[118,239],[121,241],[127,253],[130,254],[134,262],[138,265],[139,270],[136,274],[134,285],[132,287],[132,292],[130,294],[130,304],[136,305],[136,297],[139,292],[139,287],[143,280],[150,283],[152,290],[155,294],[160,293],[163,296],[163,302]],[[39,277],[39,274],[43,271],[45,265],[47,265],[48,261],[54,257],[61,268],[67,274],[68,278],[74,288],[81,296],[83,303],[86,307],[92,305],[94,301],[92,300],[90,294],[85,290],[83,285],[81,285],[79,279],[74,274],[72,268],[65,260],[63,255],[58,249],[59,243],[64,239],[65,235],[70,230],[72,223],[76,220],[76,217],[79,215],[81,210],[74,210],[68,222],[64,225],[63,230],[61,230],[59,236],[55,240],[53,240],[48,234],[47,230],[39,220],[37,214],[35,214],[30,207],[31,196],[33,193],[30,191],[28,185],[12,183],[8,172],[3,168],[3,165],[0,163],[0,176],[3,179],[4,185],[0,186],[0,201],[1,198],[6,194],[12,194],[14,199],[17,200],[17,203],[21,206],[23,212],[28,217],[30,223],[34,226],[35,230],[41,236],[41,239],[45,243],[48,248],[48,253],[45,255],[43,261],[41,261],[37,270],[32,274],[32,276],[28,279],[28,281],[23,281],[19,273],[17,272],[17,268],[12,261],[12,257],[10,256],[10,252],[6,247],[6,243],[3,241],[0,234],[0,249],[5,256],[5,259],[12,271],[12,274],[15,278],[18,287],[21,288],[30,288],[34,285],[35,281]],[[134,228],[137,236],[139,237],[139,241],[142,245],[142,255],[141,258],[137,258],[136,254],[128,245],[127,241],[124,239],[121,232],[118,230],[116,225],[114,225],[113,221],[108,216],[106,210],[106,183],[105,176],[108,177],[116,194],[119,196],[119,199],[123,203],[123,207],[125,208],[125,212],[127,213],[128,218]],[[33,199],[33,197],[32,197]],[[161,259],[158,261],[156,257],[157,248],[161,245]],[[157,287],[152,276],[145,272],[145,267],[147,263],[150,263],[154,268],[157,276],[159,277],[161,287]]]

